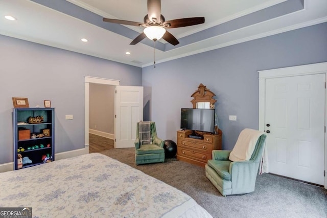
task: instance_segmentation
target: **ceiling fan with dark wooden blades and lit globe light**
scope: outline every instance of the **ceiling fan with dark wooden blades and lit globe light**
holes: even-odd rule
[[[204,17],[189,17],[166,21],[165,17],[161,14],[160,0],[148,0],[148,14],[144,17],[144,23],[109,18],[103,18],[103,21],[115,24],[146,27],[144,31],[130,43],[130,45],[135,45],[145,37],[148,37],[153,41],[159,40],[162,37],[172,45],[176,46],[179,41],[166,29],[203,24]]]

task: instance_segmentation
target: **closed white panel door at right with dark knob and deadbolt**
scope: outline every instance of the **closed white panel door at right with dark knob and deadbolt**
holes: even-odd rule
[[[324,184],[325,74],[266,79],[269,172]]]

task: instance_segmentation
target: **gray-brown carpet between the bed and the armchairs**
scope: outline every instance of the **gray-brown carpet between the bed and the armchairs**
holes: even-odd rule
[[[257,177],[254,192],[224,198],[203,167],[176,159],[136,166],[134,148],[100,153],[189,194],[213,217],[327,217],[327,190],[322,187],[264,174]]]

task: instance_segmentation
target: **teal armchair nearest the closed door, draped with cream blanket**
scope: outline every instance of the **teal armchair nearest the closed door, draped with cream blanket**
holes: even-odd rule
[[[230,150],[213,150],[213,160],[205,165],[205,176],[226,197],[254,191],[266,135],[259,137],[249,161],[230,161]]]

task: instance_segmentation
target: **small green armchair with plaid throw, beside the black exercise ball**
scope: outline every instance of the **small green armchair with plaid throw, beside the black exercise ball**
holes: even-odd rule
[[[150,122],[149,138],[145,139],[144,132],[139,131],[140,123],[136,124],[135,164],[163,163],[165,162],[165,141],[157,137],[155,122]],[[143,122],[146,123],[146,122]]]

